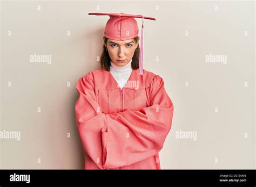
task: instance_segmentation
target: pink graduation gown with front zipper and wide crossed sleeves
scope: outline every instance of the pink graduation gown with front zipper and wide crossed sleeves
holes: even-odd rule
[[[171,130],[173,103],[159,75],[132,70],[123,89],[110,73],[94,70],[76,89],[76,125],[85,169],[160,169],[158,152]]]

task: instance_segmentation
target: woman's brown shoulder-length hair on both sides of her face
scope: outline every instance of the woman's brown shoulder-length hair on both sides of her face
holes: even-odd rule
[[[107,44],[107,39],[105,37],[104,43]],[[136,44],[139,40],[139,37],[135,37],[133,38],[136,41]],[[139,69],[139,45],[136,48],[137,50],[134,52],[133,56],[132,56],[132,69]],[[110,56],[109,56],[109,52],[106,51],[106,47],[105,45],[103,45],[103,51],[102,51],[102,55],[100,55],[100,69],[102,70],[106,70],[106,71],[110,71]]]

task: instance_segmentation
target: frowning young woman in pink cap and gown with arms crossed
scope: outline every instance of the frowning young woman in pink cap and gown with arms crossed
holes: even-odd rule
[[[85,169],[160,169],[158,152],[171,130],[173,103],[163,78],[142,69],[134,18],[155,19],[125,13],[89,15],[110,19],[101,69],[80,77],[76,85],[76,121]]]

